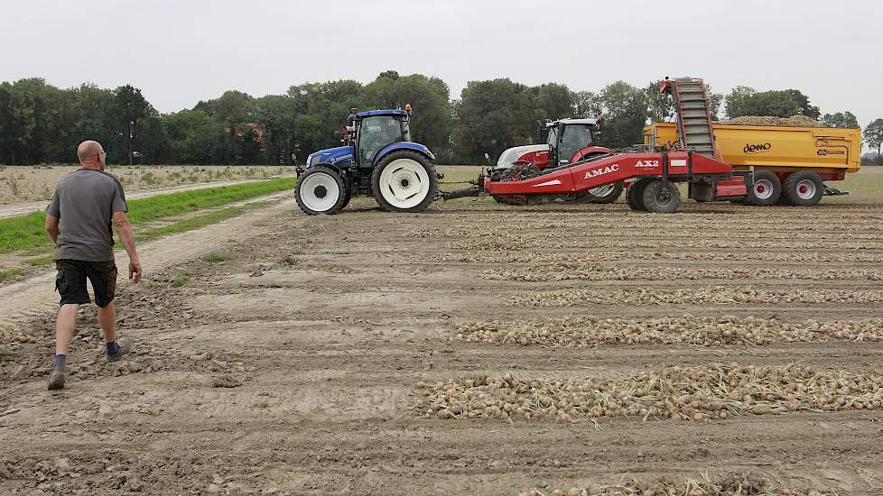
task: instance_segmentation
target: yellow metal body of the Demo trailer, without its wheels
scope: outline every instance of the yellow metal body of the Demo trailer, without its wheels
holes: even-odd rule
[[[713,131],[721,161],[735,170],[850,173],[860,168],[859,129],[714,124]],[[674,123],[646,126],[644,144],[674,148]]]

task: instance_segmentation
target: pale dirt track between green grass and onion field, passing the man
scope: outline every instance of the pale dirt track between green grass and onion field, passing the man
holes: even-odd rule
[[[248,203],[283,198],[288,192],[257,197]],[[231,205],[232,206],[232,205]],[[206,253],[216,251],[218,246],[245,240],[260,234],[256,224],[284,210],[291,209],[293,200],[284,200],[269,207],[246,212],[218,224],[207,225],[193,231],[171,234],[163,238],[140,243],[138,256],[147,279],[151,273],[162,271],[176,263],[187,262]],[[230,207],[230,206],[228,206]],[[137,230],[136,230],[137,232]],[[129,264],[125,250],[116,250],[116,267],[120,277],[117,290],[130,284],[127,277]],[[50,271],[29,280],[14,282],[0,287],[0,328],[14,330],[16,326],[34,317],[40,317],[58,305],[58,295],[53,290],[55,272]]]

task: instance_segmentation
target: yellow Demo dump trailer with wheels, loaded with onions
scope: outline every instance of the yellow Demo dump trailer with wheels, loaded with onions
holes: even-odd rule
[[[861,162],[859,129],[713,124],[720,160],[746,174],[746,202],[814,205],[823,195],[841,194],[823,181],[857,172]],[[674,123],[644,128],[644,143],[674,148]]]

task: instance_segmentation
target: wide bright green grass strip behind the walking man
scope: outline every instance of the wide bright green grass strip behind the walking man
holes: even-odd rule
[[[293,188],[295,180],[294,178],[268,179],[246,184],[139,198],[128,202],[128,217],[133,225],[143,224],[167,216],[188,214],[204,208],[219,207],[228,203],[269,195],[276,191]],[[51,242],[44,228],[45,222],[45,212],[33,212],[25,216],[0,219],[0,253],[13,253],[19,250],[50,246]]]

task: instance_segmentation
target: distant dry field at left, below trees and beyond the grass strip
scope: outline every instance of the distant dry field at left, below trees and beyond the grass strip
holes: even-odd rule
[[[59,179],[77,170],[78,166],[0,166],[0,205],[50,200]],[[123,184],[126,193],[172,188],[185,184],[241,179],[264,179],[293,174],[293,167],[269,166],[200,166],[109,165],[107,171]]]

